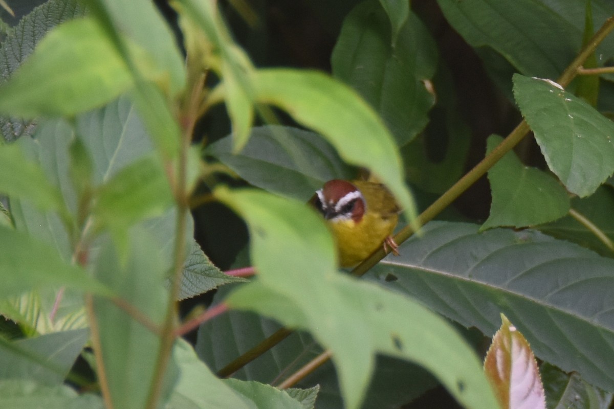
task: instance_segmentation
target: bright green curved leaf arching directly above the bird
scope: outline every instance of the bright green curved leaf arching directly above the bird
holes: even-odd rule
[[[391,190],[408,218],[415,218],[394,139],[354,91],[319,72],[290,69],[258,70],[252,84],[259,102],[286,110],[322,134],[344,161],[367,167]]]

